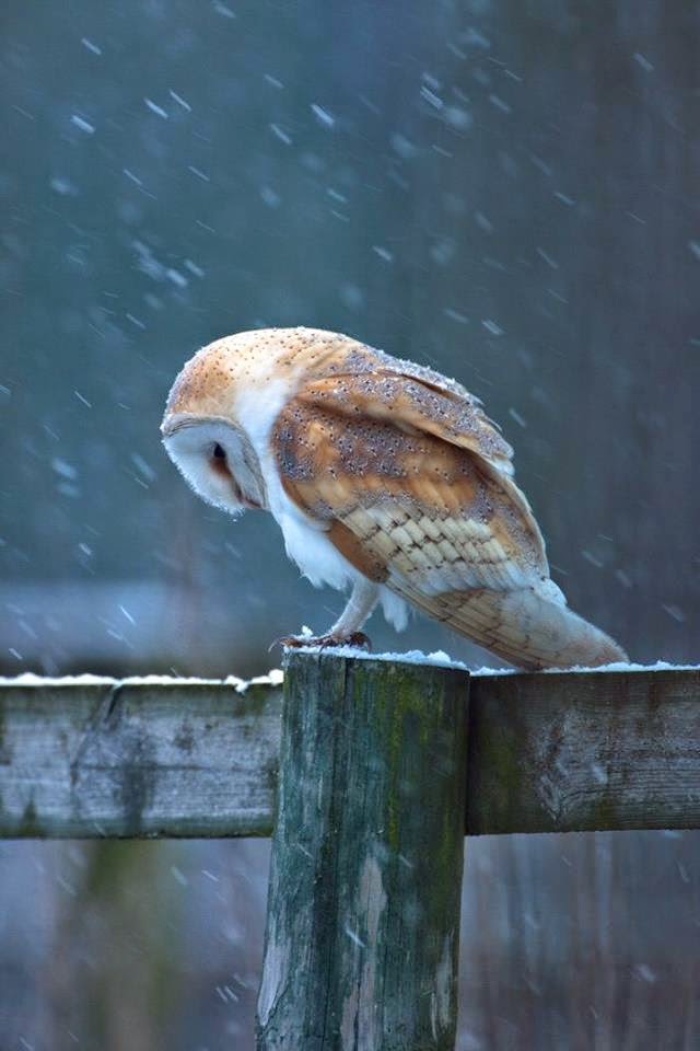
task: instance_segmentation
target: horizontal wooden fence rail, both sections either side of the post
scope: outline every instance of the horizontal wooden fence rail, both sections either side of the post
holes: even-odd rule
[[[457,674],[466,834],[700,828],[700,670]],[[4,680],[0,835],[270,835],[281,709],[278,680]]]

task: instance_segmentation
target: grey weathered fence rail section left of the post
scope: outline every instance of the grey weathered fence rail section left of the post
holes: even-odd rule
[[[281,692],[0,686],[0,835],[269,835]]]

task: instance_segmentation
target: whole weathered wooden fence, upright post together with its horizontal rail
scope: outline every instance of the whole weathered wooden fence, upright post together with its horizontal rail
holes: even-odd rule
[[[452,1051],[465,833],[690,828],[697,669],[0,686],[0,835],[272,834],[259,1051]]]

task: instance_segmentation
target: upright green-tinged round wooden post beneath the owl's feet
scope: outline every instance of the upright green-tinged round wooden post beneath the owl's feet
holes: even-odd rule
[[[468,686],[289,655],[258,1051],[453,1051]]]

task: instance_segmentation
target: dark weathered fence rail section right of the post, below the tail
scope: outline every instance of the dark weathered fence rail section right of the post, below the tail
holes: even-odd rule
[[[700,671],[471,680],[467,830],[700,828]]]

